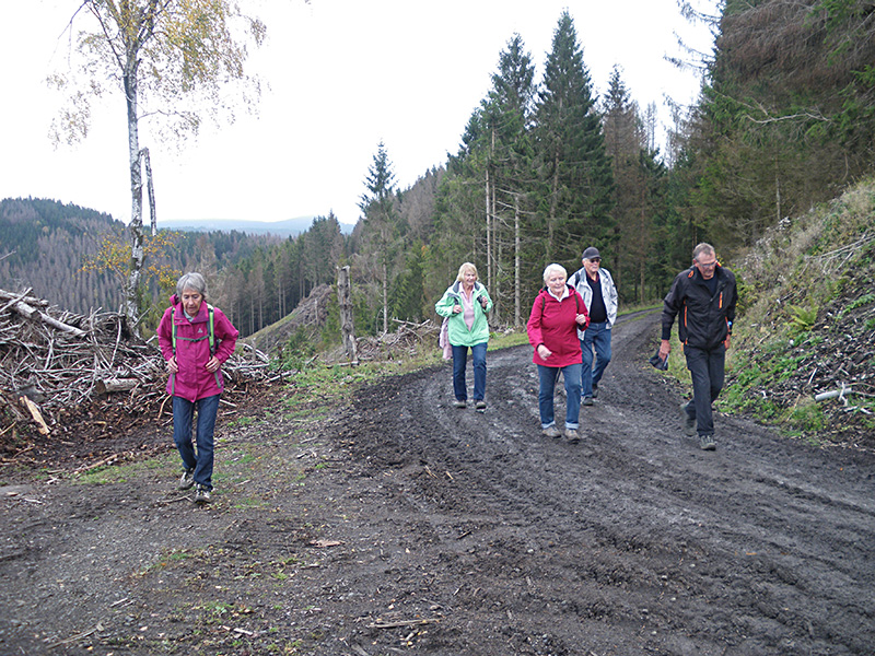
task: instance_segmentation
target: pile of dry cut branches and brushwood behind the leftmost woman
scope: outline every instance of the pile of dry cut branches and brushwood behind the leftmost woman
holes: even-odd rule
[[[232,394],[283,375],[247,345],[241,345],[222,371]],[[158,345],[137,337],[124,315],[75,315],[32,296],[30,290],[0,290],[3,461],[20,458],[40,441],[117,433],[138,418],[154,419],[167,405],[165,383]]]

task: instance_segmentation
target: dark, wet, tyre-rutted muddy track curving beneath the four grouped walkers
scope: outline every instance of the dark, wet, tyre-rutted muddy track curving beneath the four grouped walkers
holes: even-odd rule
[[[653,316],[615,329],[579,445],[539,434],[520,348],[490,353],[485,413],[452,407],[448,371],[371,399],[383,421],[364,453],[428,468],[413,494],[433,539],[533,635],[548,612],[553,653],[872,653],[873,458],[724,415],[718,450],[699,450],[645,364],[654,336]]]

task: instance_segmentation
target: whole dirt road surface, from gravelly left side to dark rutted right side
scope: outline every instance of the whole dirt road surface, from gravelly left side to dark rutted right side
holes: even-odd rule
[[[207,509],[172,455],[16,481],[0,653],[875,653],[875,456],[725,415],[701,452],[654,344],[653,315],[615,328],[578,445],[540,435],[517,348],[490,352],[483,413],[441,367],[318,424],[224,426]]]

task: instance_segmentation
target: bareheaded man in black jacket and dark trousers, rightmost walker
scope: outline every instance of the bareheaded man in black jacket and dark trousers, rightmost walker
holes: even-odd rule
[[[685,429],[688,435],[698,431],[699,446],[705,450],[716,448],[711,403],[723,388],[737,300],[733,272],[718,263],[713,246],[699,244],[692,250],[692,267],[677,274],[663,304],[660,358],[672,350],[672,325],[679,316],[678,337],[692,378],[692,401],[681,407]]]

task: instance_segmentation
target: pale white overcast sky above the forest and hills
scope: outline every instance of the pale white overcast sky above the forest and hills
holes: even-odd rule
[[[246,5],[247,0],[241,0]],[[700,0],[700,7],[714,2]],[[96,109],[89,138],[55,150],[48,139],[61,98],[46,75],[80,0],[3,2],[0,12],[0,198],[49,198],[130,219],[127,125],[120,93]],[[700,80],[665,61],[677,38],[710,51],[711,35],[687,23],[676,0],[266,0],[268,42],[250,72],[268,84],[257,116],[207,127],[197,142],[148,147],[161,219],[277,221],[358,202],[383,141],[407,188],[456,153],[489,91],[499,55],[518,33],[541,79],[563,9],[574,19],[595,92],[615,65],[631,96],[689,103]],[[84,27],[84,22],[80,23]],[[2,238],[2,235],[0,235]]]

